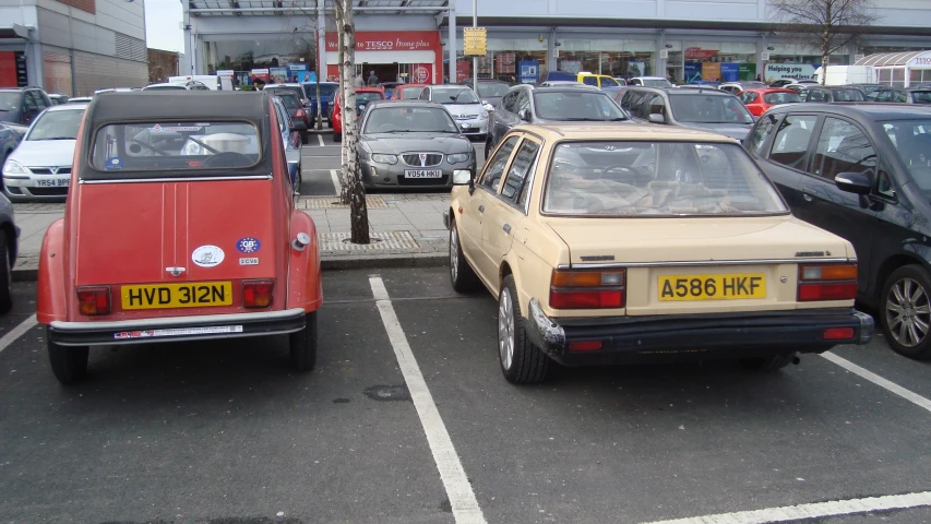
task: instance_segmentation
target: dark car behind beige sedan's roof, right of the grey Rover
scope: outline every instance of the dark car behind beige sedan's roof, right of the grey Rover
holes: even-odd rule
[[[491,114],[486,154],[508,134],[514,126],[522,123],[552,122],[621,122],[630,120],[607,93],[584,84],[534,87],[515,85],[501,99]]]

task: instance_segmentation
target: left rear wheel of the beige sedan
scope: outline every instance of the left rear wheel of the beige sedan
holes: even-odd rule
[[[512,384],[541,382],[549,371],[549,357],[527,340],[512,275],[504,277],[498,294],[498,358]]]

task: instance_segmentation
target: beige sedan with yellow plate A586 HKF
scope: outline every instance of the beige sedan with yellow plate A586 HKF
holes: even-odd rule
[[[450,276],[499,301],[501,370],[733,358],[775,370],[866,344],[850,242],[796,219],[728,138],[655,126],[514,128],[456,171]]]

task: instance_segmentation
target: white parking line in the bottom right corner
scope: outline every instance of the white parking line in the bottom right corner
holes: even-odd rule
[[[900,510],[931,505],[931,491],[918,493],[868,497],[864,499],[835,500],[812,504],[787,505],[765,510],[719,513],[717,515],[656,521],[650,524],[764,524],[767,522],[821,519],[832,515],[850,515],[883,510]]]

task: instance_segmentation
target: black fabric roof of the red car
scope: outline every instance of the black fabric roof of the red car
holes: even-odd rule
[[[260,127],[268,115],[268,94],[251,91],[141,91],[102,93],[87,107],[93,128],[114,121],[191,119],[246,120]]]

